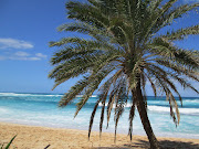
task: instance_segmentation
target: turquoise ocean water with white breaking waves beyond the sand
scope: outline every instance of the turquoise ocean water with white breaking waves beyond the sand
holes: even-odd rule
[[[52,94],[20,94],[0,93],[0,121],[32,126],[46,126],[55,128],[72,128],[87,130],[91,113],[97,96],[90,98],[87,104],[74,119],[76,97],[66,108],[59,108],[57,103],[62,95]],[[179,102],[178,102],[179,103]],[[127,104],[123,117],[119,120],[117,132],[128,132],[128,113],[130,104]],[[98,130],[98,107],[93,130]],[[180,125],[176,128],[169,115],[168,102],[165,97],[148,97],[148,116],[157,136],[197,138],[199,139],[199,97],[184,97],[184,107],[179,107]],[[114,132],[114,114],[106,129],[106,119],[103,131]],[[134,134],[145,135],[136,111],[134,119]]]

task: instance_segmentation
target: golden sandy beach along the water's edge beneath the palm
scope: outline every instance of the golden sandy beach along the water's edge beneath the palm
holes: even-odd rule
[[[130,142],[127,135],[117,135],[114,142],[114,134],[103,132],[102,138],[96,131],[92,132],[91,139],[87,138],[86,130],[60,129],[38,126],[24,126],[17,124],[0,123],[0,143],[18,135],[11,149],[146,149],[149,143],[146,137],[134,136]],[[199,139],[184,138],[158,138],[164,149],[198,149]]]

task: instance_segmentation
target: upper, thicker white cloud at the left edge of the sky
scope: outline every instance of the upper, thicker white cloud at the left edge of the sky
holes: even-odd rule
[[[34,47],[33,44],[30,42],[25,42],[22,40],[15,40],[15,39],[0,39],[0,49],[32,49]]]

